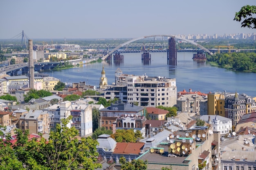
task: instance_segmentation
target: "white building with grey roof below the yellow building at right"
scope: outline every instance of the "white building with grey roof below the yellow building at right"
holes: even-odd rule
[[[220,132],[220,135],[232,132],[232,121],[227,117],[219,115],[202,115],[201,120],[213,127],[214,132]]]

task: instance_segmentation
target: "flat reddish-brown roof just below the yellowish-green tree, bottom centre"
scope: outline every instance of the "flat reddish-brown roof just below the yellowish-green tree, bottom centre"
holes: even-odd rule
[[[116,154],[139,154],[144,143],[122,143],[117,142],[113,153]]]

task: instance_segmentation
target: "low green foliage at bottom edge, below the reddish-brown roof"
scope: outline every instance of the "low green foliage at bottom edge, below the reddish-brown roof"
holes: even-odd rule
[[[122,164],[121,170],[146,170],[148,167],[148,162],[140,159],[134,159],[131,162],[127,162],[124,157],[121,157],[119,162]]]

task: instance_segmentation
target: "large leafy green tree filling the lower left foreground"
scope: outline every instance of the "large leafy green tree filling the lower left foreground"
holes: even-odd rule
[[[61,119],[62,125],[56,125],[56,131],[51,131],[49,141],[41,137],[40,141],[27,140],[27,134],[21,130],[17,134],[14,147],[18,159],[29,170],[71,170],[101,168],[96,163],[99,153],[96,151],[98,142],[91,137],[81,138],[76,128],[68,128],[72,116]]]

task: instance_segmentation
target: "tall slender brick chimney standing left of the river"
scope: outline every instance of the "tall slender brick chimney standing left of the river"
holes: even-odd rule
[[[34,89],[33,40],[29,40],[29,88]]]

